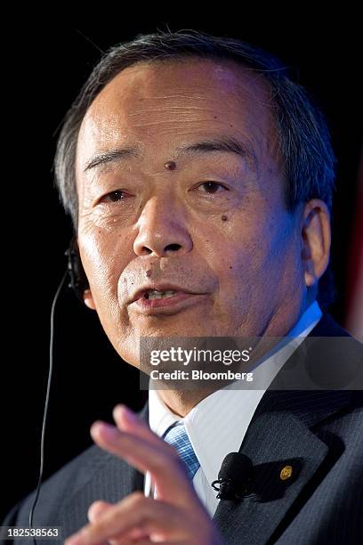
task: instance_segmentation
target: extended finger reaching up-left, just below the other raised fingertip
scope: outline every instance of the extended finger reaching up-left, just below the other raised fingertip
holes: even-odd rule
[[[152,433],[152,432],[150,432]],[[91,435],[101,448],[126,460],[142,473],[149,471],[157,484],[157,497],[175,505],[188,505],[196,500],[184,466],[174,449],[157,437],[151,444],[143,437],[122,432],[106,422],[94,422]]]

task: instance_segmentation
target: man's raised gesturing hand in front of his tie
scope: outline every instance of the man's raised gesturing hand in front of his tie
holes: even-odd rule
[[[88,511],[90,524],[70,536],[65,545],[222,545],[173,447],[125,406],[117,405],[113,416],[117,427],[94,422],[94,442],[142,473],[149,471],[157,486],[157,500],[133,492],[117,504],[95,501]]]

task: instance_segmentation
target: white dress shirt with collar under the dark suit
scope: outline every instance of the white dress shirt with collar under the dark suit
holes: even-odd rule
[[[200,467],[193,478],[193,485],[199,499],[213,517],[219,500],[211,484],[218,478],[222,461],[229,452],[238,452],[246,435],[254,411],[270,386],[278,370],[284,365],[294,350],[303,342],[322,316],[317,301],[303,313],[301,319],[286,337],[291,338],[278,352],[260,363],[254,369],[254,385],[262,380],[264,389],[234,389],[226,386],[199,402],[183,418],[166,407],[157,394],[157,389],[149,389],[149,426],[162,436],[176,421],[183,421],[190,443],[196,453]],[[145,494],[152,493],[149,473],[145,477]],[[155,492],[154,492],[155,493]]]

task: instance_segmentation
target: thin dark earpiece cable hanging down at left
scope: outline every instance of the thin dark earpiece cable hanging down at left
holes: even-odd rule
[[[49,404],[49,393],[51,390],[51,383],[52,383],[52,363],[53,363],[53,339],[54,339],[54,309],[55,305],[57,303],[57,299],[60,295],[60,290],[63,287],[64,282],[66,281],[66,278],[68,276],[68,270],[63,274],[63,277],[60,281],[60,285],[57,288],[57,291],[55,292],[55,295],[52,300],[52,311],[51,311],[51,335],[49,338],[49,371],[48,371],[48,383],[46,386],[46,395],[45,395],[45,403],[44,403],[44,413],[43,413],[43,424],[42,424],[42,437],[40,440],[40,465],[39,465],[39,478],[38,483],[36,485],[36,496],[33,501],[33,505],[31,506],[30,512],[29,512],[29,528],[33,527],[33,514],[34,509],[36,508],[36,502],[39,497],[40,492],[40,485],[42,484],[42,477],[43,477],[43,468],[44,468],[44,435],[45,435],[45,424],[46,424],[46,418],[48,414],[48,404]],[[34,545],[36,545],[36,539],[33,538]]]

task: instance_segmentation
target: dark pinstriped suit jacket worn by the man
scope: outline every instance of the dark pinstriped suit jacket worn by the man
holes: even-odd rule
[[[311,336],[348,334],[324,314]],[[362,346],[351,342],[350,360],[361,369]],[[336,356],[343,369],[347,357],[342,352],[332,358]],[[318,354],[314,365],[319,362]],[[289,364],[291,359],[283,370]],[[142,412],[146,419],[147,408]],[[254,462],[253,493],[240,501],[220,501],[214,522],[227,543],[363,543],[361,392],[269,389],[240,451]],[[281,480],[286,465],[293,467],[293,475]],[[87,524],[87,509],[94,500],[117,502],[142,488],[140,473],[94,445],[42,484],[34,525],[58,525],[63,536],[69,536]],[[12,508],[3,525],[28,526],[33,498],[34,492]]]

